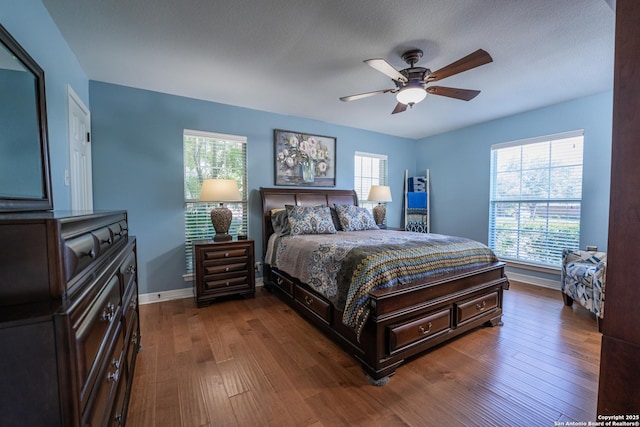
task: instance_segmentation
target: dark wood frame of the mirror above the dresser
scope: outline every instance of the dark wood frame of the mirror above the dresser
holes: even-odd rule
[[[40,135],[40,164],[42,198],[18,198],[0,195],[0,212],[46,211],[53,209],[51,194],[51,172],[49,168],[49,141],[47,136],[47,108],[44,88],[44,70],[29,56],[22,46],[0,24],[0,43],[2,43],[22,64],[31,71],[36,80],[36,108],[38,115],[38,134]]]

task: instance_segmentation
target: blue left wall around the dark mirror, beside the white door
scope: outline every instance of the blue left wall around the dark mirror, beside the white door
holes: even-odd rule
[[[67,85],[89,105],[89,79],[40,0],[0,0],[0,23],[44,70],[53,206],[69,209]]]

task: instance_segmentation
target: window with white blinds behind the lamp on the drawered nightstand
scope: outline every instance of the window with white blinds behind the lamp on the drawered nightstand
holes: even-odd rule
[[[247,138],[185,130],[184,148],[184,233],[187,274],[193,273],[192,242],[210,239],[211,209],[216,203],[199,202],[202,181],[207,178],[235,179],[242,196],[240,203],[227,203],[233,212],[229,234],[247,231]]]

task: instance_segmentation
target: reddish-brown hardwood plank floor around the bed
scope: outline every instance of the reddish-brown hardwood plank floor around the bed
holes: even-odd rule
[[[402,365],[383,387],[276,295],[140,307],[128,426],[553,426],[594,421],[601,334],[560,291],[511,282],[504,326]]]

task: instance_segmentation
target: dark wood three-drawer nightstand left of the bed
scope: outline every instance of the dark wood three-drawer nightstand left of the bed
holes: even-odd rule
[[[253,240],[193,242],[195,292],[198,307],[229,295],[255,296]]]

